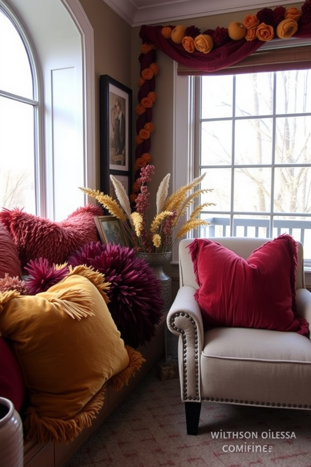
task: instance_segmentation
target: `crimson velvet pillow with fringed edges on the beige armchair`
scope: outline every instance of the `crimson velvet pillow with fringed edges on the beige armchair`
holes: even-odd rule
[[[189,251],[199,285],[195,299],[206,329],[309,332],[308,322],[294,314],[297,243],[290,235],[264,243],[247,260],[206,239],[195,239]]]

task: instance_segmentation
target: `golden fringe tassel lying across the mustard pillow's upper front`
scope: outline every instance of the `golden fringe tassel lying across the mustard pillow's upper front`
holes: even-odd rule
[[[49,303],[58,304],[70,318],[78,319],[94,316],[91,311],[92,300],[83,290],[65,290],[47,297]]]

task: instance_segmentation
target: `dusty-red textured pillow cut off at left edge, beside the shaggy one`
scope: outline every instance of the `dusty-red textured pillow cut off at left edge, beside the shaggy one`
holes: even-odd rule
[[[21,264],[11,235],[6,227],[0,224],[0,277],[6,274],[21,277]]]

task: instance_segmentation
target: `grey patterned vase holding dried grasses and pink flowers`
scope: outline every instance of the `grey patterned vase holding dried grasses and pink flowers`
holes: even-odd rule
[[[162,298],[164,300],[163,312],[167,312],[172,304],[172,278],[167,276],[163,266],[167,264],[172,256],[172,252],[165,253],[141,253],[137,252],[137,257],[142,258],[153,270],[162,287]]]

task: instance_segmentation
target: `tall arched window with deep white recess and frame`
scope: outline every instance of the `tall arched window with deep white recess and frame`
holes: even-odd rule
[[[0,69],[0,208],[65,219],[86,203],[79,186],[95,186],[93,29],[79,1],[0,0]]]

